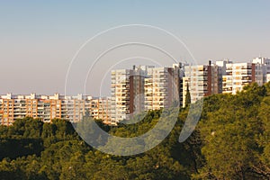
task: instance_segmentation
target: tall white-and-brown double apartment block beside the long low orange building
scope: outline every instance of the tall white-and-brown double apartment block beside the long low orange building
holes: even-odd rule
[[[166,108],[178,101],[180,74],[179,65],[112,70],[111,121],[129,120],[139,112]]]

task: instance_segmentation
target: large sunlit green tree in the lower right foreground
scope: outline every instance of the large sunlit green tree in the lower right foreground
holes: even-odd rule
[[[214,111],[209,111],[211,105],[206,106],[207,111],[203,110],[204,115],[199,123],[204,162],[199,174],[194,175],[195,178],[269,178],[262,171],[266,169],[258,166],[262,164],[260,157],[263,150],[259,145],[259,137],[266,137],[261,120],[264,116],[259,111],[265,96],[266,88],[253,84],[236,95],[220,95],[219,99],[223,99],[223,103],[218,100],[217,104],[220,104],[214,107]],[[204,101],[207,104],[211,99],[209,97]],[[264,106],[263,112],[269,112],[267,109],[269,104]],[[266,159],[268,162],[269,158]]]

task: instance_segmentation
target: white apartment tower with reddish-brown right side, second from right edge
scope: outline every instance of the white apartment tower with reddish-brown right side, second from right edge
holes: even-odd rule
[[[236,94],[245,85],[256,82],[256,65],[253,63],[231,63],[226,65],[222,93]]]

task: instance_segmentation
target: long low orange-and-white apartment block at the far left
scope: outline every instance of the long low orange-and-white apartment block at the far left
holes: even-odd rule
[[[11,125],[14,121],[24,117],[39,118],[50,122],[52,119],[65,119],[80,121],[85,112],[94,119],[110,119],[108,110],[110,100],[98,98],[97,115],[91,105],[95,101],[91,96],[77,94],[67,95],[42,95],[42,94],[5,94],[0,96],[0,124]],[[104,115],[106,114],[106,115]]]

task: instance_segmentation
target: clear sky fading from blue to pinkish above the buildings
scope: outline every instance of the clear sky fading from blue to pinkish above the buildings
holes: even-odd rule
[[[146,56],[166,66],[172,62],[157,50],[130,46],[115,49],[89,73],[98,53],[125,40],[164,45],[177,59],[195,58],[198,64],[210,59],[244,62],[259,55],[270,57],[269,8],[268,0],[1,1],[0,94],[99,95],[97,87],[102,87],[101,94],[107,95],[110,69],[142,64],[147,60],[139,57]],[[183,47],[179,50],[163,32],[131,27],[91,41],[71,63],[86,40],[124,24],[147,24],[170,31],[193,56]],[[119,61],[129,55],[138,61],[130,59],[114,66],[117,58]],[[104,85],[100,85],[103,78]]]

